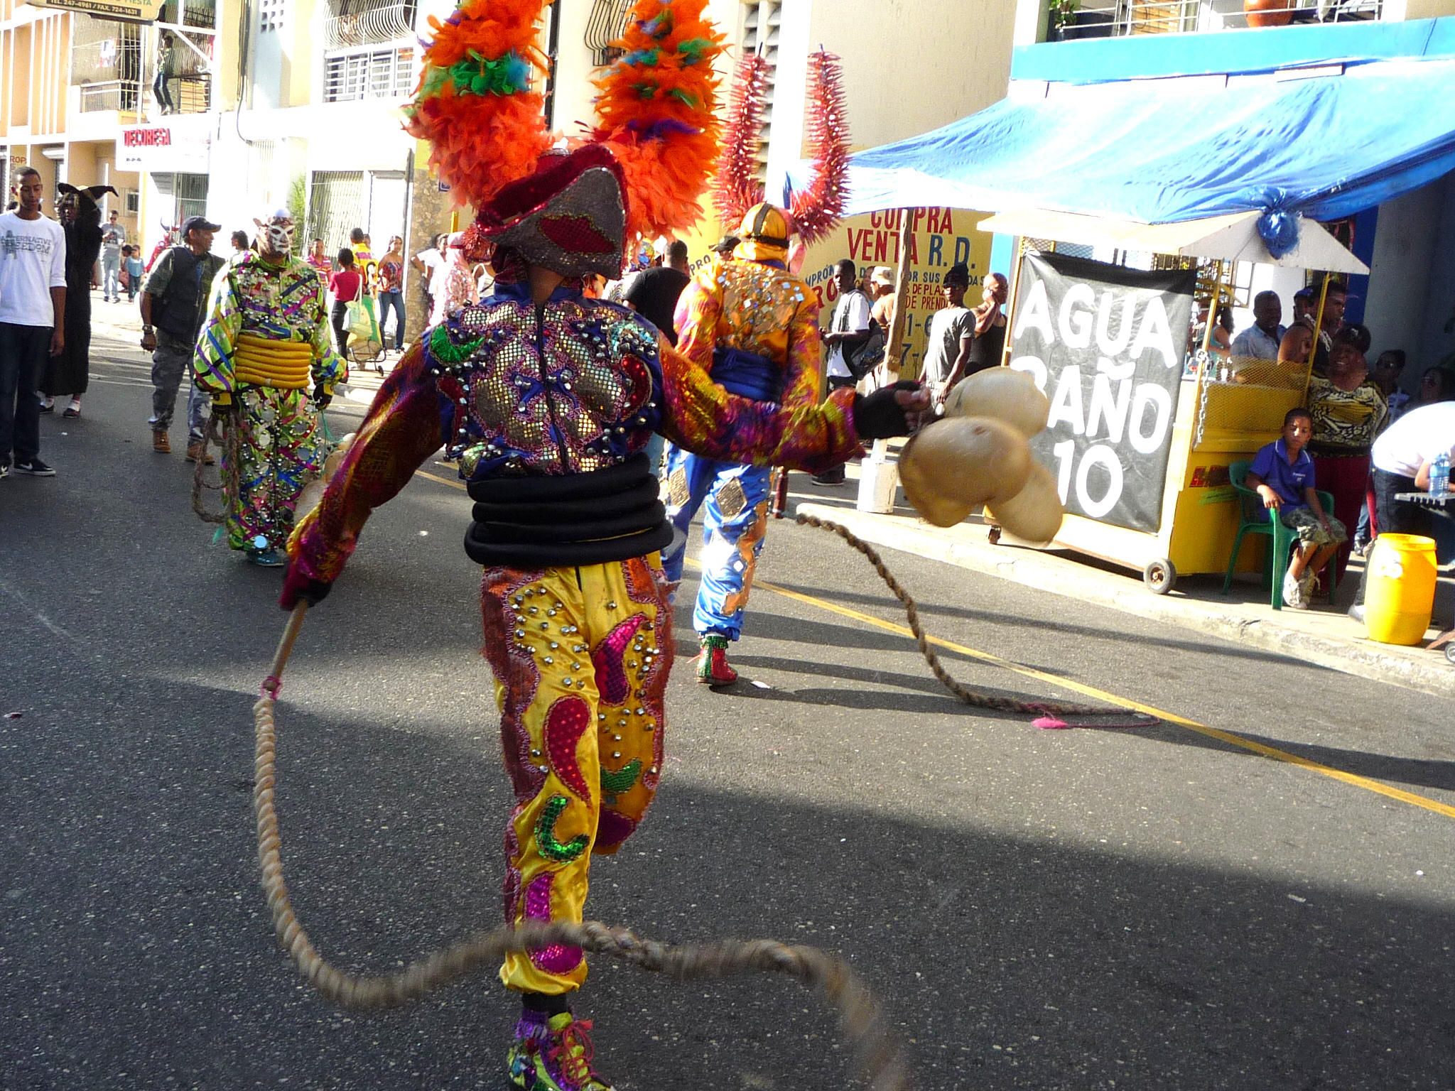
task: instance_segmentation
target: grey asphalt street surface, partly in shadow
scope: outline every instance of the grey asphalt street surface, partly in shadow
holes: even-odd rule
[[[191,467],[150,449],[144,358],[99,342],[84,417],[42,425],[60,476],[0,481],[0,1087],[503,1090],[493,975],[356,1015],[281,954],[249,711],[279,575],[211,544]],[[466,519],[423,477],[381,509],[279,704],[294,906],[348,969],[499,919],[509,790]],[[796,596],[760,585],[730,691],[693,681],[684,583],[666,775],[594,868],[594,916],[844,954],[917,1088],[1455,1085],[1452,703],[886,560],[946,642],[1227,735],[957,704],[860,557],[776,524],[760,579]],[[1081,697],[943,655],[972,685]],[[784,980],[595,960],[578,1014],[620,1091],[853,1085]]]

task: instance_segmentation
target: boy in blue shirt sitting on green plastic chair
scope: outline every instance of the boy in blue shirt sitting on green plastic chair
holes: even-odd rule
[[[1339,547],[1347,541],[1344,525],[1324,511],[1314,492],[1314,460],[1310,438],[1314,417],[1307,409],[1283,416],[1283,438],[1263,447],[1248,467],[1247,486],[1277,512],[1277,519],[1298,534],[1298,548],[1283,576],[1283,605],[1308,610],[1314,579]]]

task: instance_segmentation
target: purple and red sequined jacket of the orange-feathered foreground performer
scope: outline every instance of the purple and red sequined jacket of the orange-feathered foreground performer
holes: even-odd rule
[[[602,470],[656,431],[711,458],[818,473],[858,451],[853,399],[735,397],[620,304],[559,288],[535,305],[524,285],[496,285],[388,375],[288,551],[310,579],[336,579],[370,512],[441,442],[466,481]]]

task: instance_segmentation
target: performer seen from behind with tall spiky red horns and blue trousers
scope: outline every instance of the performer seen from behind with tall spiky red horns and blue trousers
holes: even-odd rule
[[[792,212],[764,204],[758,151],[770,68],[760,54],[746,54],[738,63],[713,204],[723,215],[741,217],[742,241],[682,291],[677,348],[728,391],[796,409],[818,401],[821,346],[810,292],[790,272],[796,268],[790,243],[824,239],[842,218],[848,129],[838,58],[821,49],[809,55],[808,64],[813,183],[792,195]],[[682,448],[668,452],[666,513],[681,531],[662,559],[672,582],[682,576],[687,528],[703,511],[703,575],[693,627],[701,644],[697,681],[707,685],[738,681],[728,662],[728,644],[742,633],[752,575],[768,531],[770,481],[771,471],[762,465],[707,458]]]

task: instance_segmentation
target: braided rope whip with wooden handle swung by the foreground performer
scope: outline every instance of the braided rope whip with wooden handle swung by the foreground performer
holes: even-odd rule
[[[728,978],[749,970],[781,973],[815,989],[838,1011],[840,1026],[853,1047],[856,1068],[866,1087],[872,1091],[906,1091],[908,1063],[879,1004],[847,963],[816,947],[787,946],[773,940],[671,947],[599,921],[524,921],[514,928],[476,932],[388,976],[351,975],[327,963],[292,912],[282,874],[278,813],[274,809],[278,784],[274,706],[307,608],[306,602],[300,602],[290,615],[272,668],[262,684],[262,695],[253,706],[253,813],[258,819],[258,863],[262,867],[262,886],[272,911],[274,928],[298,972],[314,989],[345,1008],[397,1007],[419,999],[480,964],[496,963],[508,951],[525,951],[553,943],[581,947],[592,954],[610,954],[678,982]]]

